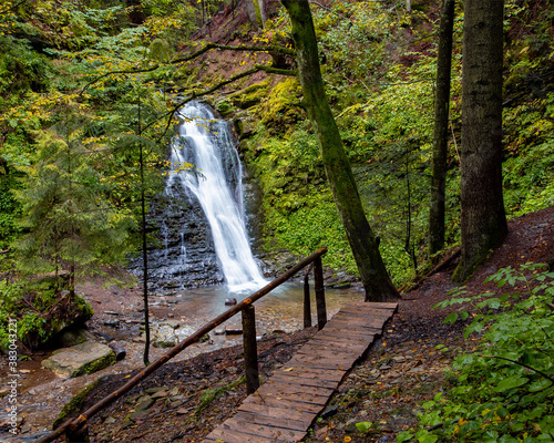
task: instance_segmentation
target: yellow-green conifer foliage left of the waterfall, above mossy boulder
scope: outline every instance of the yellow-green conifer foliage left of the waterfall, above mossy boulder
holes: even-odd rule
[[[65,264],[86,266],[92,272],[129,251],[132,219],[101,198],[101,177],[91,166],[98,153],[82,144],[84,130],[85,121],[68,120],[44,132],[38,162],[25,168],[27,183],[18,195],[30,233],[16,246],[29,271],[51,271]]]

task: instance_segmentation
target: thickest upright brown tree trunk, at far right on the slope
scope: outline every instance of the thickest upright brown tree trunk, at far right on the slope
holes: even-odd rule
[[[507,235],[502,196],[504,1],[465,0],[462,76],[462,256],[464,281]]]

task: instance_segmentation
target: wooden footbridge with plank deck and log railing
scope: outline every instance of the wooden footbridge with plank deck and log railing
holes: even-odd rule
[[[185,348],[196,342],[238,312],[243,316],[245,372],[248,398],[238,412],[212,431],[203,443],[269,443],[298,442],[324,410],[345,374],[382,332],[386,321],[397,310],[397,303],[353,302],[327,321],[325,306],[322,248],[293,267],[235,307],[198,329],[167,353],[136,373],[123,387],[113,391],[75,419],[70,419],[38,443],[58,440],[70,443],[89,442],[90,419],[129,392],[138,382],[165,364]],[[254,302],[287,281],[301,269],[314,268],[317,323],[316,336],[273,377],[259,387],[256,321]],[[308,272],[305,275],[304,324],[311,326]]]

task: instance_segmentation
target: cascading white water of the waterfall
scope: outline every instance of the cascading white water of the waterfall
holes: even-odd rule
[[[227,122],[216,120],[205,104],[193,102],[179,111],[179,137],[172,146],[174,169],[192,163],[199,175],[172,172],[167,181],[179,181],[201,203],[212,228],[215,251],[230,291],[257,289],[266,284],[252,254],[243,212],[242,166],[233,147]],[[233,179],[225,175],[229,166]],[[230,178],[230,177],[229,177]]]

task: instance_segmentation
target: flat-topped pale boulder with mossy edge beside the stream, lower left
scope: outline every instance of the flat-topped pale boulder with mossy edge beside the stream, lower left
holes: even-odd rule
[[[115,363],[110,347],[95,341],[85,341],[71,348],[55,351],[42,365],[63,378],[84,375]]]

